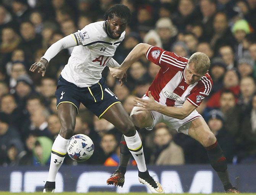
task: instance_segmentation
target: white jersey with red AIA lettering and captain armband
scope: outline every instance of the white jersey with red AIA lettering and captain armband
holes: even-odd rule
[[[78,87],[90,87],[99,82],[106,65],[115,67],[110,59],[124,39],[125,31],[119,39],[111,39],[106,33],[105,22],[88,24],[81,31],[72,34],[77,46],[61,72],[66,81]]]

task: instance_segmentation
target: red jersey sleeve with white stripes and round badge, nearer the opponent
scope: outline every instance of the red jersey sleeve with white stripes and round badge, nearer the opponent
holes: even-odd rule
[[[173,52],[168,52],[160,47],[154,46],[147,50],[146,58],[161,68],[172,68],[177,71],[183,71],[188,63],[188,58],[178,56]]]

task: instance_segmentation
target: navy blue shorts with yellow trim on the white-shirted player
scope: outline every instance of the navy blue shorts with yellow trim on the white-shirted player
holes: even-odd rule
[[[60,76],[55,96],[57,109],[61,103],[71,103],[76,106],[78,113],[80,103],[82,103],[98,118],[115,103],[121,103],[115,94],[110,91],[104,78],[101,78],[98,83],[91,87],[78,87]]]

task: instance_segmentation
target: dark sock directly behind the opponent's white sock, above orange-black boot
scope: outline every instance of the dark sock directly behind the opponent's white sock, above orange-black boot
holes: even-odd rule
[[[120,142],[120,160],[119,160],[118,170],[121,171],[123,174],[125,174],[126,172],[126,167],[130,160],[130,157],[131,157],[130,150],[126,145],[125,137],[123,137],[122,135],[121,142]]]

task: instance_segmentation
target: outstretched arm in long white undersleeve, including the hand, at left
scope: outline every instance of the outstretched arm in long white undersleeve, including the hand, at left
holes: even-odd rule
[[[38,73],[42,73],[42,76],[44,76],[47,64],[55,55],[57,55],[63,49],[66,49],[69,47],[75,47],[77,45],[76,40],[74,40],[72,36],[73,36],[72,34],[68,35],[58,40],[56,43],[52,44],[47,49],[44,56],[42,56],[41,60],[39,62],[32,64],[29,70],[31,72],[37,71]]]

